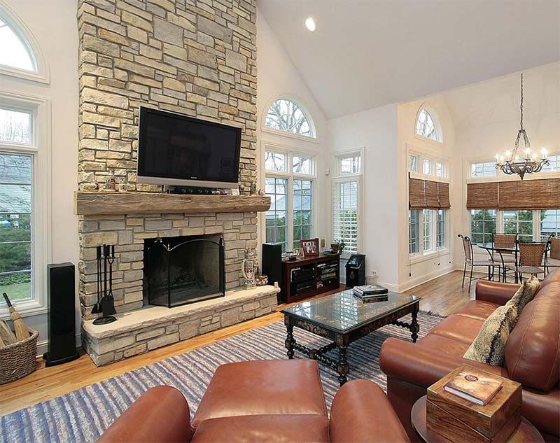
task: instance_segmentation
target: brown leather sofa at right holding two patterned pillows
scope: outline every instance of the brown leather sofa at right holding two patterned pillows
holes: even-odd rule
[[[478,281],[475,300],[447,317],[416,344],[387,339],[379,363],[387,376],[387,396],[411,439],[414,402],[426,388],[458,365],[480,367],[518,381],[523,388],[521,414],[545,441],[560,440],[560,271],[547,275],[512,330],[505,365],[496,367],[463,358],[484,320],[517,291],[519,285]]]

